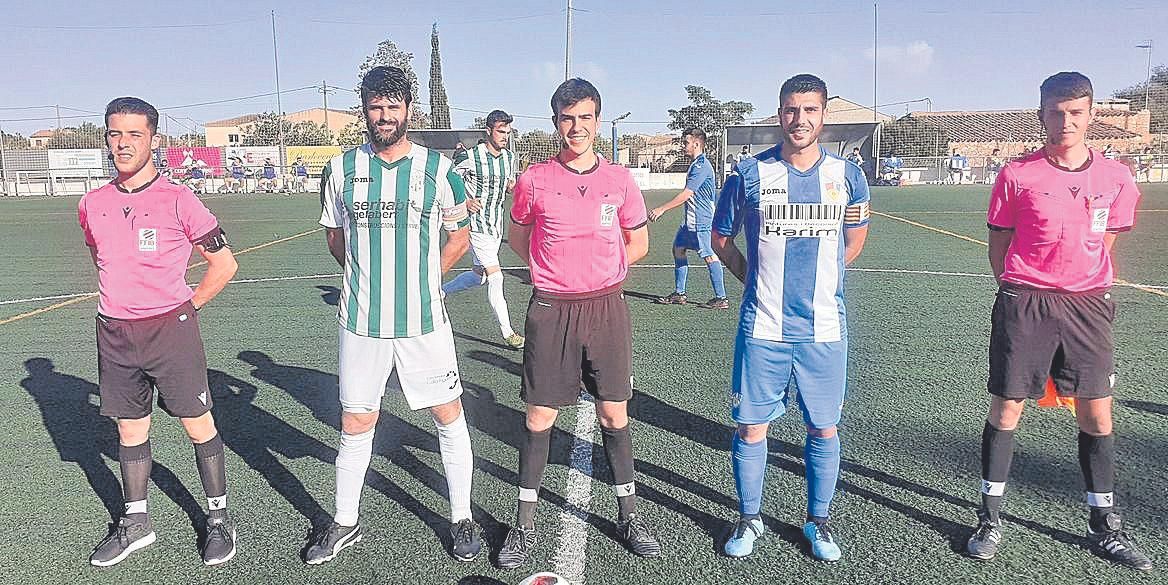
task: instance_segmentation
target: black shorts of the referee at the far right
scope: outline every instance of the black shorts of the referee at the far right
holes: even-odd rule
[[[1003,284],[989,334],[989,394],[1041,398],[1049,377],[1059,396],[1111,396],[1114,320],[1107,290],[1064,293]]]

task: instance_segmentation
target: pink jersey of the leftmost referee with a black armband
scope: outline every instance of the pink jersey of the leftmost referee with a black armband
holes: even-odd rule
[[[133,191],[109,183],[86,193],[77,218],[97,258],[97,311],[114,319],[160,315],[190,300],[192,242],[218,228],[190,189],[157,176]]]

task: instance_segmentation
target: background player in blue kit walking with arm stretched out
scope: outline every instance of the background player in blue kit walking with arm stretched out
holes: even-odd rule
[[[684,204],[686,217],[677,227],[673,238],[674,290],[667,297],[656,299],[662,305],[684,305],[686,277],[689,273],[687,250],[697,251],[710,270],[710,284],[714,285],[714,298],[703,302],[705,308],[730,308],[726,300],[725,281],[722,277],[722,263],[714,253],[710,244],[710,223],[714,221],[714,166],[705,159],[705,132],[701,128],[687,128],[681,134],[686,141],[686,154],[694,158],[686,174],[686,188],[676,197],[661,207],[649,210],[649,221],[658,221],[666,211]]]

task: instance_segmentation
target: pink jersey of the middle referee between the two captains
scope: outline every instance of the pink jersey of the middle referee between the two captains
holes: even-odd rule
[[[578,294],[625,280],[628,258],[621,230],[648,221],[633,175],[599,158],[578,173],[550,159],[515,182],[512,221],[531,227],[531,284],[540,291]]]

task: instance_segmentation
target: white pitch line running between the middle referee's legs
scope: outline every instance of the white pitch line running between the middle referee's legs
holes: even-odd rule
[[[572,452],[569,458],[566,499],[569,508],[559,513],[559,544],[552,563],[556,572],[570,583],[583,585],[588,559],[589,502],[592,500],[592,436],[596,432],[596,406],[580,399],[572,429]]]

